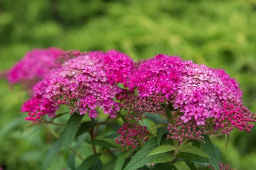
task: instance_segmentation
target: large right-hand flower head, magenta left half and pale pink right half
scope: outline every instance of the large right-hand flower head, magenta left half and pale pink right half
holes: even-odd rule
[[[214,130],[227,134],[233,126],[250,131],[253,125],[249,123],[256,121],[243,106],[242,91],[235,79],[223,70],[179,57],[160,54],[143,61],[129,77],[128,85],[139,93],[138,97],[124,99],[125,107],[134,111],[130,118],[144,112],[163,113],[163,104],[172,104],[183,113],[183,123],[201,126],[212,118]]]

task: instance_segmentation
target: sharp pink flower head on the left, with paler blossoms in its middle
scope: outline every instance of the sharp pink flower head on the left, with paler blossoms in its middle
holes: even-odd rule
[[[119,51],[94,51],[69,59],[34,86],[34,97],[25,102],[21,111],[29,112],[26,120],[54,116],[60,105],[68,105],[70,113],[97,116],[96,107],[115,118],[119,103],[114,99],[122,92],[118,83],[126,85],[126,78],[134,63]]]

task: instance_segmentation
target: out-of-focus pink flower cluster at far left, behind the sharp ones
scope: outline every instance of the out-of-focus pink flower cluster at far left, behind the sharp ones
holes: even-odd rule
[[[28,52],[23,59],[17,62],[8,72],[10,83],[35,83],[42,79],[44,74],[61,65],[55,59],[62,50],[58,48],[34,49]]]

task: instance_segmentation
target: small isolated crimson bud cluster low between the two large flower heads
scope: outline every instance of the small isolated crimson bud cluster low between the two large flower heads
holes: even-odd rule
[[[131,146],[135,149],[140,143],[148,140],[148,137],[145,137],[145,135],[148,134],[147,127],[135,123],[124,123],[117,132],[121,134],[121,136],[119,136],[119,139],[116,138],[116,143],[120,143],[122,147]]]

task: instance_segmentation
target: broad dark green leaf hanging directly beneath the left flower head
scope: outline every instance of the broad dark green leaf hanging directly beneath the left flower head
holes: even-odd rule
[[[70,150],[71,144],[75,139],[76,132],[83,116],[84,115],[80,115],[79,113],[74,113],[72,116],[70,116],[70,119],[67,121],[67,126],[61,132],[60,139],[66,152]]]

